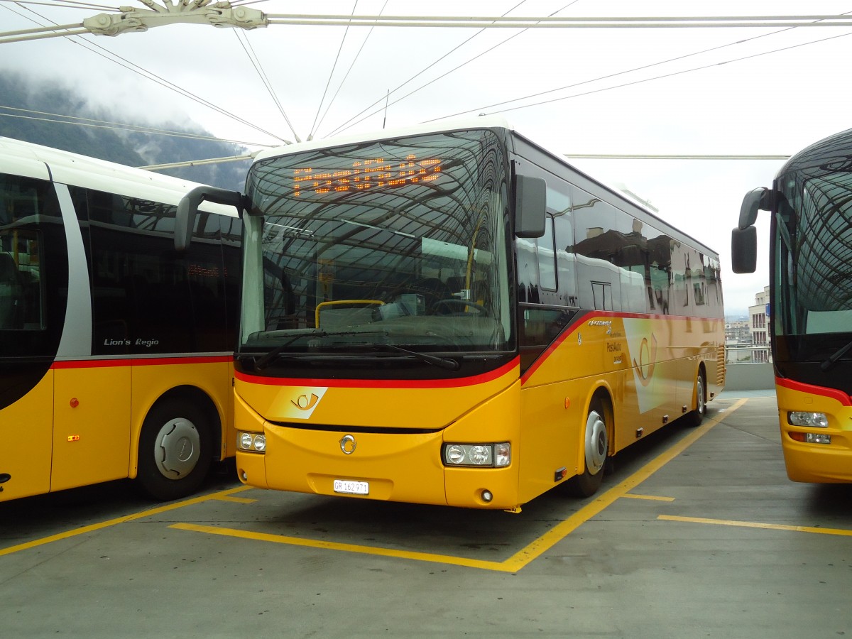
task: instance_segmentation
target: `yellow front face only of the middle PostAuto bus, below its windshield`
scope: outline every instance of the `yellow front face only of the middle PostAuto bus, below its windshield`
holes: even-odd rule
[[[369,498],[465,506],[475,506],[473,502],[479,499],[484,505],[475,496],[475,487],[459,488],[461,497],[446,494],[441,444],[511,442],[519,414],[517,375],[517,367],[510,366],[509,372],[496,379],[455,388],[277,387],[238,379],[237,429],[267,436],[264,455],[237,452],[238,474],[245,483],[258,487],[331,495],[335,494],[335,479],[367,481]],[[268,410],[279,416],[289,415],[285,402],[299,404],[306,391],[317,396],[319,399],[309,410],[298,409],[302,415],[310,412],[308,419],[314,428],[298,428],[298,422],[286,418],[264,420],[249,401],[239,396],[245,392],[258,398],[264,390],[273,398],[267,404],[272,406]],[[305,400],[301,403],[305,404]],[[371,414],[373,406],[382,406],[383,410]],[[370,417],[373,423],[378,421],[386,428],[413,432],[364,433],[350,429],[369,424]],[[315,429],[317,425],[324,429]],[[338,428],[325,429],[329,426]],[[434,432],[420,433],[417,429]],[[356,441],[355,450],[349,455],[341,446],[341,439],[347,434]],[[453,470],[458,473],[459,469]],[[480,492],[488,488],[494,493],[490,507],[496,507],[498,500],[505,507],[517,504],[516,464],[505,469],[479,469],[476,475],[477,485],[485,481],[485,475],[494,477],[485,481],[487,486],[479,486]],[[458,499],[463,499],[463,503],[453,501]]]

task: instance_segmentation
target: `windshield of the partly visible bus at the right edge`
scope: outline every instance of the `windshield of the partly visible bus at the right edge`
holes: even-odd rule
[[[799,359],[819,358],[852,338],[852,166],[820,164],[778,183],[775,333],[801,336]]]

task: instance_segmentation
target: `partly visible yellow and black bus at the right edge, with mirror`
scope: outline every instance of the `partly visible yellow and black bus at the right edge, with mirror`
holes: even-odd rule
[[[769,335],[781,448],[792,481],[852,481],[852,130],[792,156],[746,195],[734,273],[757,267],[769,210]]]

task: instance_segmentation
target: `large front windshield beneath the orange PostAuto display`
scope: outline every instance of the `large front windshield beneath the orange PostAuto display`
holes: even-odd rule
[[[511,348],[506,164],[489,130],[256,163],[239,351]]]

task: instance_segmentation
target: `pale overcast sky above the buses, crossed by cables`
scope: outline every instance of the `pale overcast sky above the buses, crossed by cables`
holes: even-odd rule
[[[139,0],[122,4],[145,9]],[[259,0],[245,6],[273,16],[852,12],[852,0]],[[78,24],[106,8],[103,0],[0,0],[0,33]],[[852,128],[850,54],[852,25],[481,30],[271,24],[246,31],[175,24],[117,37],[2,42],[0,68],[70,86],[114,113],[115,122],[180,126],[192,119],[252,150],[499,113],[521,134],[569,156],[765,156],[797,153]],[[636,193],[665,221],[717,250],[727,314],[746,314],[769,284],[768,214],[757,224],[757,273],[731,271],[730,231],[743,196],[771,186],[783,159],[569,161]]]

